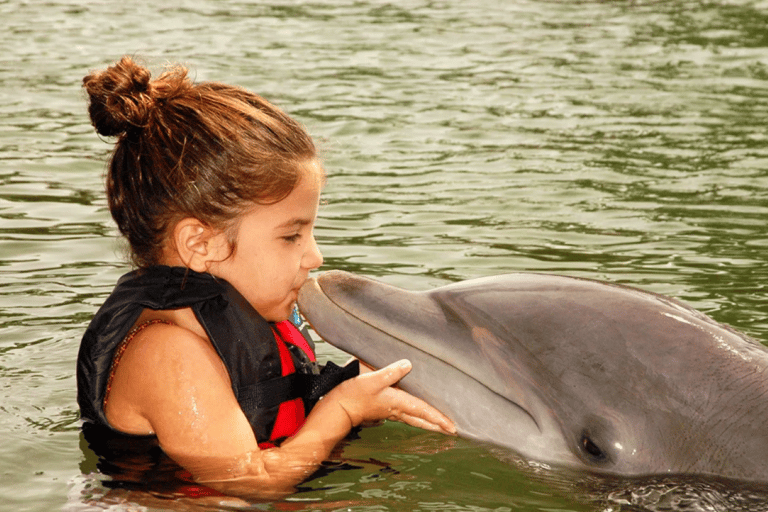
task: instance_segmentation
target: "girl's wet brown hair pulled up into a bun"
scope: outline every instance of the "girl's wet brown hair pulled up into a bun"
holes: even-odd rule
[[[169,228],[186,217],[228,232],[234,244],[238,216],[284,199],[317,157],[282,110],[240,87],[194,84],[181,66],[151,80],[123,57],[83,87],[96,131],[117,137],[107,199],[140,268],[159,263]]]

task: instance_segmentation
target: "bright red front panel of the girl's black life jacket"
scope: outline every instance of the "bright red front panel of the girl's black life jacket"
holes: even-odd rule
[[[291,322],[288,320],[278,322],[274,324],[273,330],[275,332],[275,342],[280,351],[280,364],[283,376],[290,375],[296,371],[291,352],[288,350],[286,343],[299,347],[307,354],[311,361],[316,360],[315,353],[312,351],[306,338],[302,336]],[[294,398],[293,400],[283,402],[277,411],[275,426],[272,428],[272,434],[269,436],[270,441],[277,441],[278,439],[292,436],[301,428],[305,420],[304,401],[301,398]],[[259,447],[262,449],[274,446],[276,445],[269,441],[259,443]]]

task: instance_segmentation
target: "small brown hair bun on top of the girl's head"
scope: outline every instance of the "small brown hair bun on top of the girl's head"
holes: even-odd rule
[[[114,136],[143,128],[155,106],[151,74],[130,57],[104,71],[83,78],[88,93],[88,113],[96,131]]]

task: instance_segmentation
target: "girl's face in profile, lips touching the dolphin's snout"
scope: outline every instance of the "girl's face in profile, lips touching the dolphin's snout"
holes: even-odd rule
[[[317,161],[304,166],[288,197],[256,205],[240,218],[234,252],[209,268],[270,322],[288,319],[309,271],[323,263],[313,229],[324,173]]]

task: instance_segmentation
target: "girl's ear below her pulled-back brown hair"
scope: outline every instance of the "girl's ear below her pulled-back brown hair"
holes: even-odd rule
[[[228,250],[224,233],[214,231],[194,217],[182,219],[173,228],[176,252],[185,267],[195,272],[206,272],[211,263],[226,259]]]

